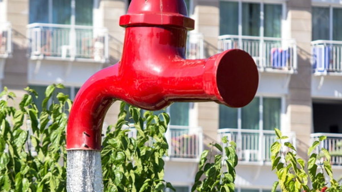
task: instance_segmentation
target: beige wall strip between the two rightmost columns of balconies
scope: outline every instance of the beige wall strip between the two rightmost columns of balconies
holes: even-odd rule
[[[306,157],[312,130],[311,0],[289,0],[287,5],[288,32],[298,46],[298,73],[289,84],[288,115],[290,129],[297,135],[298,153]]]

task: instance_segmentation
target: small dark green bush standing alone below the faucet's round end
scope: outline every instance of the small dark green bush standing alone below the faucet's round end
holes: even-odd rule
[[[210,151],[205,150],[201,154],[198,165],[199,171],[195,177],[195,184],[191,191],[198,192],[234,192],[235,167],[238,163],[236,155],[236,144],[234,141],[228,143],[226,137],[222,138],[225,147],[218,143],[212,144]],[[214,156],[212,162],[213,148],[222,154]],[[209,161],[207,157],[209,156]]]

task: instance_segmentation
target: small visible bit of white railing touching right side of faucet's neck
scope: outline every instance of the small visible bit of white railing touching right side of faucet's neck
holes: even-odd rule
[[[189,32],[186,42],[186,58],[202,59],[204,58],[204,40],[201,33]]]

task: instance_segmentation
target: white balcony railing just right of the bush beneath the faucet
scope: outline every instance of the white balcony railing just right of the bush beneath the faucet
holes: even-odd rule
[[[132,125],[128,136],[136,137],[136,134]],[[169,158],[199,159],[203,151],[202,128],[169,125],[165,136],[169,144]],[[149,141],[147,144],[151,143]]]

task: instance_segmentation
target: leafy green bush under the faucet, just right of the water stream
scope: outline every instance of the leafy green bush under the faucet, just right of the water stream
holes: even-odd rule
[[[171,188],[171,183],[163,180],[164,160],[168,143],[165,138],[170,121],[167,113],[158,116],[147,111],[140,115],[140,109],[129,106],[125,110],[121,103],[118,122],[107,128],[103,141],[102,167],[105,191],[143,192],[163,191]],[[128,137],[130,116],[134,121],[136,137]]]

